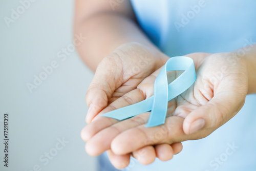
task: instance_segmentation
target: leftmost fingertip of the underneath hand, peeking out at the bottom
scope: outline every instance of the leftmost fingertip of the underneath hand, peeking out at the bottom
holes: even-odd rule
[[[108,153],[110,162],[117,169],[122,169],[124,167],[127,167],[130,163],[130,154],[116,155],[111,151],[111,149],[108,150],[107,153]]]

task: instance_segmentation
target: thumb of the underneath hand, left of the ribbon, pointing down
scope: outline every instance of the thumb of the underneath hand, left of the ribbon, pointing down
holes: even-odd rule
[[[122,72],[112,65],[109,57],[105,57],[98,65],[94,78],[86,94],[86,102],[89,107],[86,122],[93,118],[108,105],[112,94],[121,85]],[[119,71],[119,72],[118,72]],[[119,85],[120,84],[120,85]]]

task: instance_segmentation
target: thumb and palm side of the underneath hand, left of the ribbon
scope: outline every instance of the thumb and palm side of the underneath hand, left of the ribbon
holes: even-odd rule
[[[168,57],[160,51],[148,49],[136,42],[123,44],[103,58],[86,95],[89,106],[87,123],[110,103],[136,90],[142,80],[162,67],[167,60]]]

